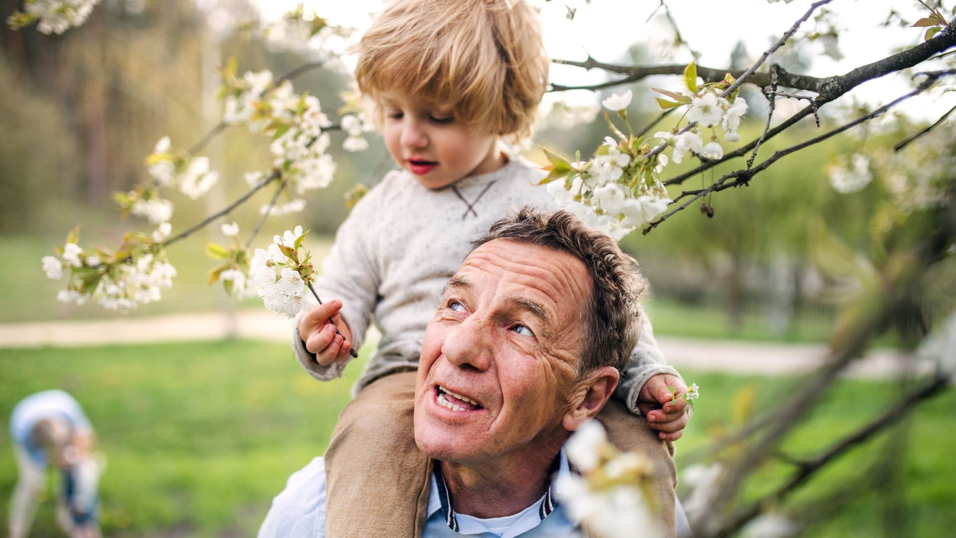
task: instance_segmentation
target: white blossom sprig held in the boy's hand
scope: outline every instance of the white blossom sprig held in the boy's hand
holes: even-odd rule
[[[250,261],[250,279],[266,308],[280,316],[294,318],[312,307],[305,290],[313,279],[310,255],[300,260],[299,248],[306,233],[301,226],[275,235],[268,249],[255,249]]]

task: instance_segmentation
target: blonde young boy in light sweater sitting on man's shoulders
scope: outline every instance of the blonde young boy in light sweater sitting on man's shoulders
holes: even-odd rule
[[[376,103],[385,145],[402,169],[342,223],[315,285],[329,301],[299,317],[293,347],[315,378],[337,378],[374,315],[379,348],[325,453],[325,535],[414,536],[429,491],[412,429],[425,325],[471,241],[510,208],[554,208],[548,191],[532,186],[543,172],[500,144],[530,137],[549,60],[536,13],[520,0],[398,0],[362,37],[359,53],[359,89]],[[622,411],[642,412],[664,440],[680,437],[686,423],[683,399],[671,404],[667,390],[685,392],[684,382],[664,364],[646,318],[623,373],[620,402],[606,407],[602,422],[621,448],[655,454],[662,473],[676,476],[644,420]],[[661,492],[670,500],[673,485]],[[670,526],[673,517],[663,515]]]

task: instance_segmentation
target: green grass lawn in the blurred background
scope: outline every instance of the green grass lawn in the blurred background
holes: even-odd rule
[[[343,380],[319,383],[299,369],[288,347],[250,341],[0,349],[0,498],[9,497],[15,482],[7,438],[13,405],[31,392],[61,388],[84,406],[109,460],[100,488],[106,535],[254,535],[289,475],[324,450],[358,366]],[[678,444],[682,466],[683,456],[794,382],[684,375],[701,385],[703,396]],[[789,449],[800,457],[813,454],[879,413],[896,391],[885,383],[841,383],[789,439]],[[904,428],[853,450],[811,481],[787,509],[832,519],[813,518],[805,535],[879,535],[881,514],[896,497],[912,518],[911,535],[946,535],[956,526],[956,463],[948,452],[956,442],[954,406],[954,392],[923,404]],[[891,439],[905,449],[904,480],[892,498],[879,486],[857,483]],[[766,467],[748,494],[781,482],[790,470]],[[849,494],[821,508],[819,499],[834,487],[847,487]],[[41,505],[33,536],[60,535],[53,508],[52,501]],[[7,509],[0,503],[3,519]]]

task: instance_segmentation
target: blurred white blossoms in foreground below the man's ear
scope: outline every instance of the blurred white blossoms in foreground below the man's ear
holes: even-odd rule
[[[642,456],[622,453],[612,445],[604,428],[592,420],[564,446],[579,475],[559,475],[555,495],[569,515],[603,538],[663,536],[648,487],[655,469]]]

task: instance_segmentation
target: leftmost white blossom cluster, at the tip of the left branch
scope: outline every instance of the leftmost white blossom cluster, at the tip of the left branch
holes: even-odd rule
[[[110,310],[128,311],[140,304],[162,299],[162,290],[172,286],[176,268],[166,259],[163,240],[169,235],[163,223],[151,235],[130,233],[116,252],[85,251],[76,244],[76,230],[57,249],[58,256],[42,259],[51,280],[67,277],[56,299],[61,303],[95,301]]]

